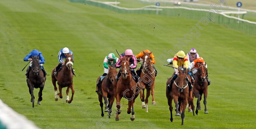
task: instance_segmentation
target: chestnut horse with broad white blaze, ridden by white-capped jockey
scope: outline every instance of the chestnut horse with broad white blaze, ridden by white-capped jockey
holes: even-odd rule
[[[72,54],[69,53],[65,59],[65,63],[64,65],[62,65],[62,69],[59,70],[57,75],[54,75],[54,71],[56,69],[56,67],[52,70],[52,84],[54,86],[54,90],[55,90],[55,101],[58,101],[58,96],[60,98],[62,98],[62,88],[67,87],[66,90],[66,94],[67,94],[67,98],[66,98],[66,103],[68,102],[69,104],[72,102],[73,100],[73,96],[75,93],[74,87],[73,87],[73,73],[71,71],[72,66],[73,66],[73,58],[72,58]],[[57,87],[56,87],[56,81],[57,84],[59,85],[59,93],[57,94]],[[69,100],[69,88],[72,91],[72,96],[71,99]]]

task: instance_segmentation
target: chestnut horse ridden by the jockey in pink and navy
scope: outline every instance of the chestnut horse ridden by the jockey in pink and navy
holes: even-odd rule
[[[120,110],[120,101],[121,98],[124,97],[126,100],[128,100],[128,110],[127,114],[132,113],[132,116],[130,117],[131,121],[134,121],[134,108],[133,104],[135,102],[135,99],[138,97],[140,92],[140,85],[137,85],[135,83],[135,80],[133,79],[130,71],[130,63],[129,58],[123,57],[123,59],[120,59],[121,61],[121,68],[120,71],[122,73],[122,76],[118,80],[116,84],[116,121],[119,121],[119,114],[122,110]],[[132,107],[132,110],[131,110]]]

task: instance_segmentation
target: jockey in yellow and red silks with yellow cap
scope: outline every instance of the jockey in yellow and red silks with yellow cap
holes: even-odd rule
[[[179,51],[178,53],[176,53],[174,55],[172,63],[173,63],[173,67],[174,67],[174,70],[175,70],[175,75],[172,77],[172,80],[167,85],[167,87],[171,87],[174,80],[178,77],[178,67],[180,68],[180,70],[183,70],[183,67],[188,69],[188,66],[189,66],[188,57],[185,56],[185,53],[183,51]],[[188,85],[189,85],[189,91],[191,91],[193,86],[191,85],[188,78],[187,78],[187,82],[188,82]]]

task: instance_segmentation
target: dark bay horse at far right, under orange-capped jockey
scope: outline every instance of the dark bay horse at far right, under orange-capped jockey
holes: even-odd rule
[[[196,114],[198,113],[198,110],[201,110],[200,100],[202,99],[202,94],[204,94],[204,113],[208,113],[206,108],[206,99],[207,99],[207,90],[208,90],[208,83],[206,80],[206,76],[208,74],[206,63],[199,64],[197,73],[195,74],[195,81],[194,81],[194,92],[193,92],[193,98],[197,97],[197,108],[196,108]]]

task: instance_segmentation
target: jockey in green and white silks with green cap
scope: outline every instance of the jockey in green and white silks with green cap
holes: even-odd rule
[[[118,58],[115,56],[114,53],[109,53],[108,56],[105,57],[104,61],[103,61],[103,68],[104,68],[104,73],[101,75],[100,80],[98,80],[97,82],[97,87],[96,87],[96,92],[98,92],[99,90],[101,90],[101,85],[99,85],[103,79],[107,76],[108,74],[108,70],[109,70],[109,66],[111,66],[112,64],[116,64],[118,62]],[[108,66],[109,65],[109,66]]]

